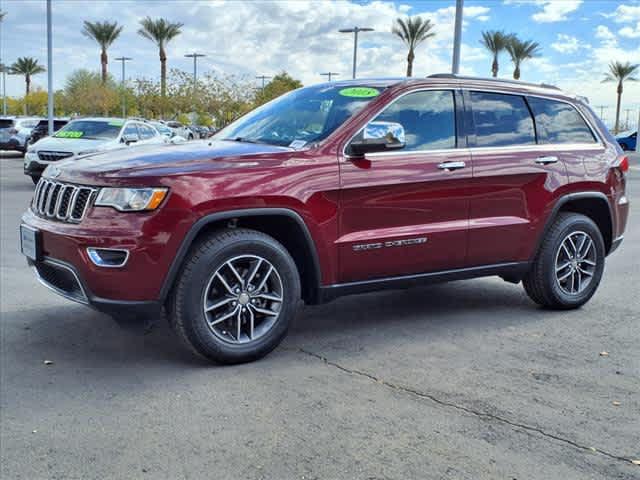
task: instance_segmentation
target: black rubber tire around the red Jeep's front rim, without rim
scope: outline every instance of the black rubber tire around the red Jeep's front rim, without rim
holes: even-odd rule
[[[259,256],[275,268],[282,284],[282,302],[275,323],[262,336],[247,343],[232,343],[214,333],[204,313],[203,301],[212,275],[229,260],[247,255]],[[280,344],[299,301],[300,277],[296,264],[279,242],[255,230],[226,229],[200,241],[187,255],[169,302],[169,321],[195,353],[217,363],[244,363],[265,356]]]

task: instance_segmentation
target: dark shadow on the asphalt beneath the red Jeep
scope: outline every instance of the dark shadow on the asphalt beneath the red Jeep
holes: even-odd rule
[[[544,314],[522,288],[501,281],[472,280],[350,296],[301,308],[283,347],[268,358],[278,363],[279,357],[290,357],[291,351],[309,346],[348,349],[366,342],[374,348],[401,341],[410,332],[437,341],[451,330],[501,329],[535,322]],[[164,319],[145,332],[123,328],[106,315],[73,304],[3,316],[5,328],[21,330],[11,337],[22,345],[5,344],[18,356],[31,356],[25,352],[36,349],[43,356],[96,368],[211,366],[183,347]]]

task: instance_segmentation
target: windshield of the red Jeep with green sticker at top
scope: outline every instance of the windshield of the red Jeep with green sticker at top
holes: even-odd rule
[[[301,148],[328,137],[381,91],[364,85],[295,90],[248,113],[217,138]]]

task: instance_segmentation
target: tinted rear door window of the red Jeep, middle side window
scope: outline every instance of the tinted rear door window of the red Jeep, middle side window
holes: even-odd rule
[[[533,118],[523,97],[471,92],[478,147],[536,143]]]

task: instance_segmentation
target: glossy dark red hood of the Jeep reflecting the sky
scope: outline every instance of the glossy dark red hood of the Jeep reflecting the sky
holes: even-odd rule
[[[57,162],[61,178],[100,181],[181,175],[196,171],[257,166],[294,152],[288,147],[233,141],[196,141],[125,148]],[[47,175],[45,173],[45,175]]]

